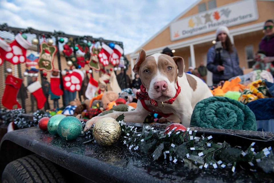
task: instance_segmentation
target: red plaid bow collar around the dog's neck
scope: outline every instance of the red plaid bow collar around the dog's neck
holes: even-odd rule
[[[170,100],[167,100],[166,102],[164,103],[167,103],[167,104],[173,104],[173,102],[176,100],[177,96],[180,94],[181,92],[181,87],[179,86],[178,84],[178,81],[176,82],[177,84],[177,89],[176,89],[176,94],[173,98],[171,98]],[[138,100],[149,100],[150,101],[150,104],[152,106],[158,106],[158,102],[151,99],[149,96],[148,96],[148,92],[146,92],[146,88],[144,87],[143,83],[142,85],[140,86],[140,90],[141,92],[137,92],[136,93],[136,97]]]

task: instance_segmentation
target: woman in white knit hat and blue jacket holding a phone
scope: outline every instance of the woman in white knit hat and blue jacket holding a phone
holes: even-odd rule
[[[236,48],[229,38],[229,30],[220,26],[216,30],[216,43],[207,52],[207,69],[213,73],[213,84],[243,75]]]

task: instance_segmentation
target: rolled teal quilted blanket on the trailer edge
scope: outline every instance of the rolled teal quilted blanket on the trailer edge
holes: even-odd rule
[[[257,131],[254,113],[241,102],[227,97],[209,97],[198,102],[193,110],[190,125]]]

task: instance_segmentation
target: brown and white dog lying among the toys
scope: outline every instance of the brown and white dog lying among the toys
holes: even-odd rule
[[[146,105],[145,108],[164,114],[173,113],[167,118],[169,121],[189,125],[194,106],[197,102],[211,97],[212,94],[206,83],[200,78],[184,73],[184,67],[182,57],[170,57],[160,53],[146,57],[146,52],[141,49],[133,71],[140,75],[149,98],[159,103],[158,106],[153,106],[149,100],[145,100],[145,104],[143,104]],[[172,104],[162,103],[174,98],[177,81],[181,87],[181,92],[176,100]],[[125,122],[142,123],[149,114],[143,105],[138,100],[137,108],[134,111],[113,112],[100,117],[96,116],[86,123],[84,131],[100,118],[111,117],[116,119],[121,114],[124,114]]]

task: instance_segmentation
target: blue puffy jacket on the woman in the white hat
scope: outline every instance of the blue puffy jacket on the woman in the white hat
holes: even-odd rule
[[[223,73],[217,70],[217,66],[220,64],[217,61],[214,46],[209,48],[207,52],[207,69],[213,73],[213,82],[228,80],[231,77],[243,75],[243,71],[239,66],[239,57],[235,47],[233,47],[232,53],[229,53],[227,50],[222,50],[221,59],[223,61],[223,66],[225,67]]]

